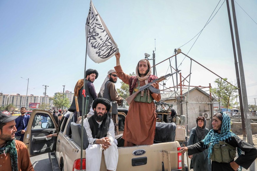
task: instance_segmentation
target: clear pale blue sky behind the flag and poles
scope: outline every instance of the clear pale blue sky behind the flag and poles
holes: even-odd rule
[[[223,0],[224,1],[224,0]],[[223,1],[220,1],[218,8]],[[155,47],[156,63],[173,55],[193,38],[213,13],[218,0],[98,0],[95,8],[105,21],[121,53],[121,66],[126,73],[135,72],[144,53]],[[257,1],[236,0],[257,22]],[[42,85],[49,85],[47,95],[65,90],[74,91],[78,79],[84,76],[85,22],[89,0],[23,0],[0,1],[0,92],[4,94],[43,95]],[[257,82],[257,24],[235,3],[238,30],[243,56],[246,85]],[[215,10],[215,12],[217,9]],[[195,39],[181,47],[188,53]],[[235,82],[233,49],[225,3],[200,34],[188,55],[223,78]],[[184,56],[178,56],[178,65]],[[152,61],[150,61],[152,63]],[[175,60],[171,61],[175,67]],[[94,82],[97,93],[107,71],[116,65],[115,57],[104,63],[87,58],[87,68],[97,69]],[[169,62],[157,66],[157,75],[164,75]],[[190,60],[185,58],[179,69],[188,76]],[[190,85],[215,86],[217,76],[196,63],[192,65]],[[170,73],[170,70],[168,70]],[[120,80],[119,80],[120,81]],[[171,79],[166,86],[172,86]],[[120,83],[116,84],[120,87]],[[257,98],[257,85],[247,87],[248,103]]]

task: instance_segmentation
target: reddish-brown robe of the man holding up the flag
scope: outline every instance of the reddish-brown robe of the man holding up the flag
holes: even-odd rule
[[[130,84],[129,75],[122,71],[121,66],[114,67],[117,76],[126,84]],[[145,81],[140,81],[140,86],[145,85]],[[136,83],[135,87],[138,87]],[[159,89],[159,84],[155,87]],[[160,101],[161,95],[156,93],[151,93],[154,100]],[[130,104],[128,113],[125,119],[124,133],[122,138],[125,141],[131,142],[136,145],[152,145],[155,135],[155,104],[143,103],[143,102],[133,102]]]

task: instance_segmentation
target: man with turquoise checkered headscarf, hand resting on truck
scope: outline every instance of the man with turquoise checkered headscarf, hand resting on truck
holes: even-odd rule
[[[182,152],[188,151],[188,155],[193,155],[208,148],[208,159],[212,160],[212,171],[233,171],[238,167],[248,169],[257,158],[257,149],[252,145],[242,141],[230,131],[230,117],[225,113],[216,113],[213,116],[213,129],[202,141],[181,147]],[[236,157],[236,147],[238,158]],[[245,154],[241,154],[244,151]]]

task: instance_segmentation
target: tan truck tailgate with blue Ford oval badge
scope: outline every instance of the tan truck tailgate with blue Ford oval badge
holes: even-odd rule
[[[138,145],[133,147],[118,147],[119,159],[117,171],[138,171],[152,170],[162,171],[162,163],[164,168],[168,170],[168,159],[166,153],[163,157],[162,150],[177,151],[180,147],[177,141],[168,143],[159,143],[153,145]],[[133,154],[134,153],[134,154]],[[171,153],[170,165],[171,170],[178,169],[178,153]],[[104,158],[102,156],[101,170],[106,169]]]

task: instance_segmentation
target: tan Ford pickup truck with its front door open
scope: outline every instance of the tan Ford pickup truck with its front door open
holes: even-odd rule
[[[127,109],[118,109],[119,132],[123,131],[124,120],[127,115]],[[36,124],[37,117],[47,117],[47,123]],[[66,113],[62,120],[57,124],[51,113],[46,110],[33,110],[24,135],[24,143],[29,150],[30,156],[36,156],[49,153],[53,170],[76,171],[80,170],[81,155],[81,124],[74,122],[74,113]],[[168,123],[159,123],[168,124]],[[174,125],[173,126],[174,128]],[[174,138],[171,142],[154,143],[153,145],[137,145],[132,147],[119,147],[119,159],[117,171],[179,171],[184,168],[184,154],[180,153],[180,144]],[[59,132],[57,137],[46,138],[46,135]],[[83,132],[82,145],[82,169],[85,167],[85,155],[88,141],[86,131]],[[119,136],[119,135],[118,135]],[[163,135],[159,135],[162,137]],[[100,171],[106,171],[104,156],[102,155]]]

